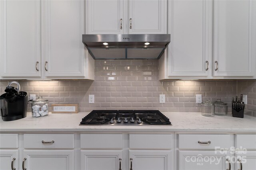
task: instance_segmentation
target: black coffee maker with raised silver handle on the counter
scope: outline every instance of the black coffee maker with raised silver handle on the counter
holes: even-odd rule
[[[17,88],[10,86],[17,84]],[[0,96],[0,109],[3,121],[12,121],[27,116],[28,95],[26,92],[20,92],[20,84],[18,82],[10,82],[6,89],[6,93]]]

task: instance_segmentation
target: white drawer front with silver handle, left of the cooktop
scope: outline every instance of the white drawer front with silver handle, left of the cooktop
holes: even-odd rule
[[[74,134],[24,134],[24,148],[71,149],[74,148]]]

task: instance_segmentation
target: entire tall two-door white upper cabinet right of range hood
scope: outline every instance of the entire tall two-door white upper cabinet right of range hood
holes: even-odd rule
[[[170,0],[161,79],[256,78],[256,1]]]

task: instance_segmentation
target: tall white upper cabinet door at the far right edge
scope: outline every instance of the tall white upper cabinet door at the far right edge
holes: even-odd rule
[[[214,0],[213,76],[255,75],[255,24],[256,1]]]

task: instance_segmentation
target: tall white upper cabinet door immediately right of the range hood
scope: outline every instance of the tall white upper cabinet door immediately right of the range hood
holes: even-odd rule
[[[168,9],[168,76],[208,76],[212,58],[212,0],[174,0]]]

